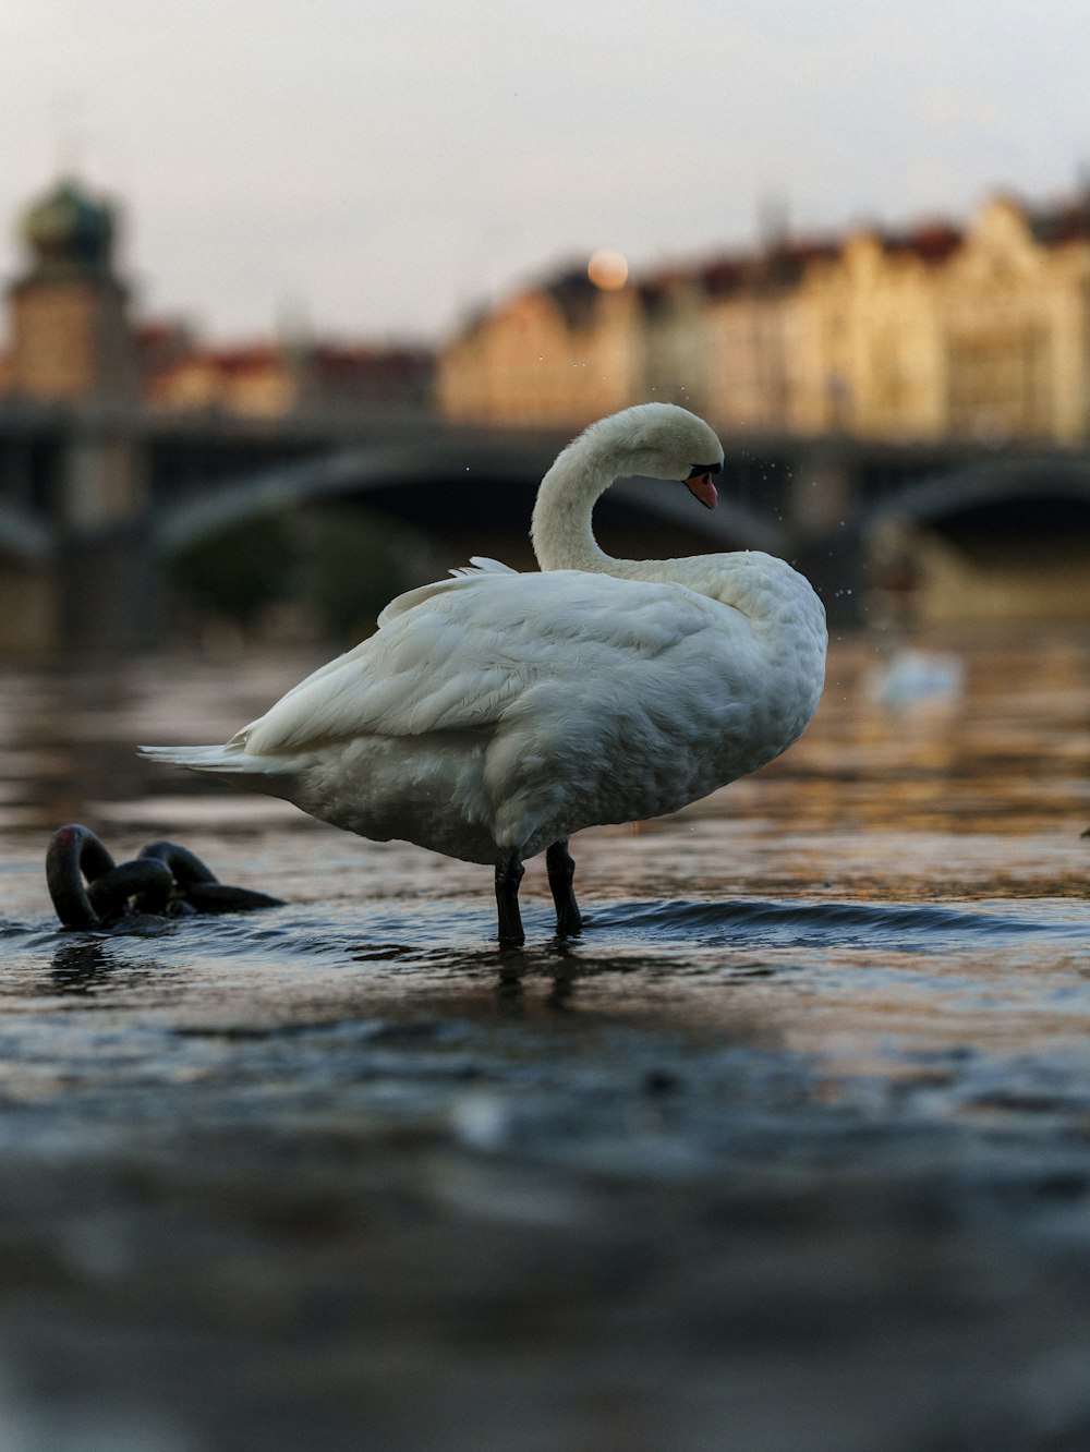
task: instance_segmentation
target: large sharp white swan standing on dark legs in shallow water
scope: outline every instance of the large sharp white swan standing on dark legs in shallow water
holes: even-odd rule
[[[591,510],[614,479],[685,481],[708,508],[723,450],[644,404],[592,424],[541,481],[541,574],[492,560],[412,590],[377,632],[225,746],[145,746],[311,816],[493,862],[501,942],[523,942],[523,861],[546,848],[576,932],[567,836],[675,812],[785,751],[817,707],[824,610],[755,550],[611,559]]]

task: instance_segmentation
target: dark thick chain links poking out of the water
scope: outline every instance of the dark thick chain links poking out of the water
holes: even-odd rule
[[[229,887],[199,857],[174,842],[148,842],[118,865],[87,826],[71,822],[49,838],[45,881],[65,928],[113,928],[126,918],[181,918],[197,912],[280,908],[279,897]]]

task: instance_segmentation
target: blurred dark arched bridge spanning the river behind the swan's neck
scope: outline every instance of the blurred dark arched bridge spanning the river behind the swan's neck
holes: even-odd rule
[[[264,423],[3,405],[0,645],[154,639],[173,553],[334,499],[430,536],[450,565],[486,553],[533,568],[534,491],[569,437],[431,415]],[[604,547],[765,549],[797,560],[849,620],[868,581],[900,605],[927,585],[925,619],[955,619],[968,601],[984,614],[1090,613],[1086,450],[734,436],[724,449],[718,510],[626,481],[595,514]]]

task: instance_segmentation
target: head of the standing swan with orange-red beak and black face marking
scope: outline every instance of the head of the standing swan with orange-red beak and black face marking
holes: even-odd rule
[[[723,446],[713,428],[676,404],[639,404],[604,418],[589,434],[601,436],[623,459],[627,475],[682,479],[708,510],[716,507],[713,473],[723,468]],[[595,440],[598,441],[598,440]]]

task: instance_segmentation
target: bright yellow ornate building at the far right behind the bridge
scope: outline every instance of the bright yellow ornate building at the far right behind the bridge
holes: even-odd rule
[[[1090,434],[1090,212],[997,197],[959,232],[856,234],[807,269],[826,427],[881,439]]]

